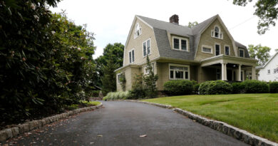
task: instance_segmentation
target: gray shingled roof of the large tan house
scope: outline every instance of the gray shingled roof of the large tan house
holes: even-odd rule
[[[189,28],[187,26],[181,26],[177,24],[172,24],[170,22],[160,21],[156,19],[150,19],[145,16],[136,16],[138,19],[143,21],[145,24],[153,28],[155,33],[155,39],[158,44],[158,51],[160,53],[160,57],[166,58],[179,58],[185,60],[194,60],[195,54],[197,52],[197,46],[200,41],[200,36],[205,29],[212,24],[215,19],[219,18],[219,15],[212,16],[210,19],[202,21],[202,23]],[[220,22],[222,20],[220,19]],[[225,27],[225,26],[224,26]],[[226,28],[226,27],[225,27]],[[227,28],[226,28],[227,29]],[[177,36],[185,36],[190,40],[190,51],[176,51],[170,49],[170,43],[168,40],[168,34],[174,34]],[[233,40],[232,36],[230,35],[229,31],[227,31],[230,38]],[[235,46],[240,43],[235,43]],[[235,47],[234,47],[235,48]],[[246,47],[245,47],[246,48]],[[246,53],[248,54],[248,52]],[[249,55],[248,55],[249,57]]]

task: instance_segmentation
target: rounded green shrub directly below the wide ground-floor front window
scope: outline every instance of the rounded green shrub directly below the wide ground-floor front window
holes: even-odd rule
[[[169,95],[188,95],[192,93],[193,85],[190,80],[170,80],[164,83],[164,90]]]

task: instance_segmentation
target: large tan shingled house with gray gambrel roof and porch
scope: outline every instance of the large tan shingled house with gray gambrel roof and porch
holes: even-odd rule
[[[125,43],[123,67],[115,70],[117,90],[122,90],[123,75],[125,88],[130,90],[136,74],[148,74],[146,56],[158,74],[158,90],[163,90],[168,80],[255,79],[257,60],[249,58],[246,46],[232,38],[219,15],[192,28],[179,25],[177,15],[171,16],[170,22],[135,16]]]

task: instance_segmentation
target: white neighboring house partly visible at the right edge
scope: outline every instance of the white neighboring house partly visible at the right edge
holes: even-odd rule
[[[278,80],[278,56],[277,53],[275,53],[274,56],[272,56],[267,63],[264,64],[262,67],[258,67],[259,74],[258,78],[259,80],[264,81],[277,81]]]

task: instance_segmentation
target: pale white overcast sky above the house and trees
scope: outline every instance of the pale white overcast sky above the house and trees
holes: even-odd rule
[[[50,9],[57,13],[66,10],[68,19],[77,25],[87,24],[87,30],[95,33],[93,58],[101,56],[108,43],[125,44],[135,15],[169,21],[170,16],[177,14],[180,25],[186,26],[188,22],[201,23],[219,14],[235,41],[245,46],[259,43],[268,46],[272,48],[270,55],[278,48],[277,26],[263,35],[257,33],[259,19],[253,15],[254,2],[244,7],[235,6],[232,0],[63,0]]]

